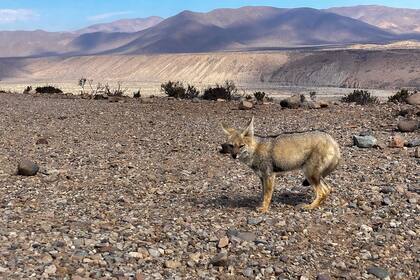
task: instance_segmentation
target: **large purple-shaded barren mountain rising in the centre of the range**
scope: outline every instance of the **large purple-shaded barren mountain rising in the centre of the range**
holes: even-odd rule
[[[137,34],[137,39],[112,53],[203,52],[394,39],[384,30],[334,13],[271,7],[185,11]]]

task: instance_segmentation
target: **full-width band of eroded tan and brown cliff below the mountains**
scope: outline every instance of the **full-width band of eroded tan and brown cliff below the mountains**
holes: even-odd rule
[[[224,52],[0,59],[3,81],[420,87],[420,50]]]

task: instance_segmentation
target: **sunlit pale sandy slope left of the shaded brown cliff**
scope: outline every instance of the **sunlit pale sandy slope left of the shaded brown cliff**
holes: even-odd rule
[[[280,52],[83,56],[14,60],[14,64],[12,60],[0,60],[0,65],[1,68],[12,65],[21,69],[11,80],[76,81],[87,77],[95,80],[160,82],[173,79],[212,83],[226,79],[259,80],[283,65],[287,58],[287,53]]]

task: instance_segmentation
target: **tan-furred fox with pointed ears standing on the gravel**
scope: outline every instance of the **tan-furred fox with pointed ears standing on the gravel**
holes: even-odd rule
[[[331,192],[324,178],[336,169],[340,161],[337,142],[327,133],[313,131],[281,134],[275,137],[254,135],[254,118],[244,130],[222,125],[228,136],[230,154],[251,167],[260,177],[263,187],[261,212],[268,211],[277,173],[302,169],[313,186],[315,199],[306,209],[318,207]]]

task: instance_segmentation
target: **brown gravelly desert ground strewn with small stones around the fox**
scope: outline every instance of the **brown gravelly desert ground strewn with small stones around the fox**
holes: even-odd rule
[[[402,105],[0,100],[2,279],[420,277],[420,161],[415,148],[388,147]],[[321,208],[300,209],[313,193],[291,172],[269,213],[255,211],[258,178],[218,151],[219,123],[251,116],[260,134],[322,129],[338,141],[343,161]],[[352,145],[365,131],[379,147]],[[36,176],[16,175],[22,159]]]

